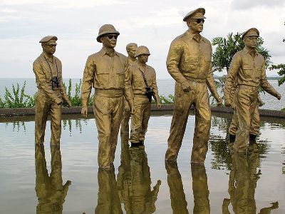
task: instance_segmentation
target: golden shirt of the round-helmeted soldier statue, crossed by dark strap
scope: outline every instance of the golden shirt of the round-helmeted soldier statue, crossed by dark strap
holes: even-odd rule
[[[152,89],[153,96],[155,97],[155,101],[157,103],[160,102],[160,96],[158,95],[157,82],[156,82],[156,74],[155,69],[151,66],[145,66],[145,71],[140,68],[142,72],[145,73],[145,79],[147,81],[147,85]],[[127,69],[127,79],[126,79],[126,88],[133,88],[133,94],[145,95],[145,81],[142,77],[142,73],[139,70],[138,63],[133,63],[128,66]]]

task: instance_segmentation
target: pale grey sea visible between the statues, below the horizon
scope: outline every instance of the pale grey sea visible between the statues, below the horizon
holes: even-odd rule
[[[69,78],[63,79],[66,86],[68,86]],[[71,78],[72,90],[71,94],[75,92],[76,83],[79,83],[79,78]],[[12,90],[13,85],[16,87],[17,83],[19,83],[19,88],[25,86],[25,93],[28,95],[33,95],[36,93],[36,83],[34,78],[0,78],[0,96],[3,99],[5,95],[5,88],[9,91]],[[285,84],[278,86],[277,80],[269,80],[271,86],[273,86],[276,91],[281,93],[281,100],[277,100],[274,96],[271,96],[269,93],[260,93],[261,100],[265,103],[261,108],[271,109],[271,110],[281,110],[281,108],[285,108]],[[175,91],[175,81],[172,78],[158,78],[157,79],[157,87],[160,95],[168,96],[169,94],[174,95]],[[220,96],[222,96],[221,91],[219,91]]]

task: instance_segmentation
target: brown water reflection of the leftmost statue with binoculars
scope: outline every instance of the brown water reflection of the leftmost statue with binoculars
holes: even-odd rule
[[[51,174],[46,169],[46,158],[43,145],[35,147],[36,196],[38,205],[36,213],[63,213],[63,203],[71,181],[63,185],[61,150],[59,146],[51,146]]]

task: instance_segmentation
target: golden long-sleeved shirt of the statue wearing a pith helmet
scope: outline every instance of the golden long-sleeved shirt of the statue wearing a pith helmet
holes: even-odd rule
[[[83,73],[82,105],[88,106],[92,86],[96,89],[125,89],[127,57],[115,51],[110,56],[105,49],[88,56]],[[128,100],[130,93],[126,94]]]

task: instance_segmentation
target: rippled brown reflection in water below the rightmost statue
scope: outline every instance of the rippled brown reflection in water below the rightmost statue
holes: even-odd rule
[[[232,203],[234,213],[257,213],[255,203],[255,189],[261,170],[257,170],[260,164],[260,153],[257,143],[249,145],[248,153],[232,152],[232,170],[229,173],[229,198],[224,198],[222,213],[228,214],[229,203]],[[260,213],[270,213],[278,208],[278,202],[271,207],[262,208]]]

